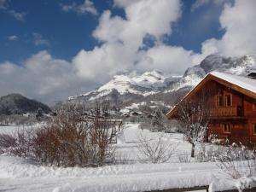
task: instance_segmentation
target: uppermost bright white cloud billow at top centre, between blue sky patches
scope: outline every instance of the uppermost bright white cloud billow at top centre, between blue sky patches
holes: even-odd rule
[[[114,1],[119,6],[123,5],[126,19],[119,16],[111,17],[111,12],[105,11],[99,26],[93,32],[95,38],[104,42],[120,41],[125,46],[131,46],[131,49],[138,49],[147,34],[157,39],[171,34],[172,24],[181,15],[181,3],[178,0],[126,2]]]

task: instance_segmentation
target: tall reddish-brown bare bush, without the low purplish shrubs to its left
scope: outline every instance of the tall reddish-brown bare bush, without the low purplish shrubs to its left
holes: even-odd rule
[[[38,160],[57,166],[98,166],[111,159],[112,122],[95,114],[84,115],[84,104],[67,103],[53,121],[38,133]]]

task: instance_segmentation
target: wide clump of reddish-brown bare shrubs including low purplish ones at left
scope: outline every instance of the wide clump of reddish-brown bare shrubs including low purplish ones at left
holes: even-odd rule
[[[45,165],[102,166],[113,160],[117,131],[116,122],[106,117],[107,110],[107,105],[97,103],[88,114],[83,103],[67,103],[40,129],[18,131],[5,139],[0,136],[0,144],[10,154],[29,156]]]

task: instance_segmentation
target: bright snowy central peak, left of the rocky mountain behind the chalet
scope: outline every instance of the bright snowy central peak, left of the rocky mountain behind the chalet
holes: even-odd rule
[[[119,95],[138,95],[149,96],[164,90],[169,84],[177,82],[181,76],[166,77],[158,71],[145,73],[126,73],[113,76],[107,84],[103,84],[96,90],[92,90],[80,96],[70,96],[69,99],[75,99],[81,96],[90,97],[89,100],[94,100],[102,96],[108,96],[115,92]]]

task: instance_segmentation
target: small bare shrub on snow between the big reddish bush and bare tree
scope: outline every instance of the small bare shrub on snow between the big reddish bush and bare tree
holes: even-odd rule
[[[137,149],[141,155],[139,158],[146,158],[151,163],[164,163],[171,159],[177,145],[173,145],[163,135],[150,139],[142,134],[138,136]]]

